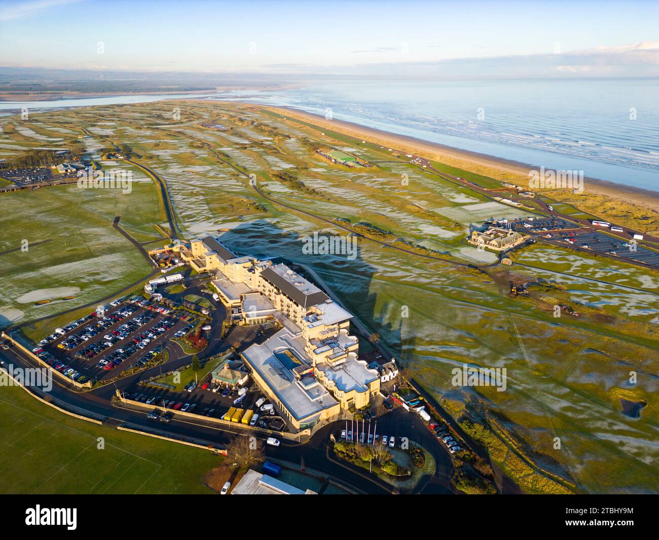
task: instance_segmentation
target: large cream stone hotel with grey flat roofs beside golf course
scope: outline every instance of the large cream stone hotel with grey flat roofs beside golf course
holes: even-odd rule
[[[180,251],[194,270],[215,274],[212,284],[237,322],[275,318],[281,324],[281,330],[241,356],[298,431],[368,405],[381,380],[395,377],[393,365],[383,375],[358,359],[357,338],[349,334],[352,315],[285,264],[239,257],[211,236],[192,240]]]

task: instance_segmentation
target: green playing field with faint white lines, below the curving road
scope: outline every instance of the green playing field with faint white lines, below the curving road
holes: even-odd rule
[[[214,454],[69,417],[15,386],[0,388],[0,432],[3,494],[214,493]]]

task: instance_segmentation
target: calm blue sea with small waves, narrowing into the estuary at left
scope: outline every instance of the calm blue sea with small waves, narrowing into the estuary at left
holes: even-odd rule
[[[153,102],[236,100],[292,107],[511,160],[659,192],[659,80],[330,79],[281,90],[3,102],[0,111]]]

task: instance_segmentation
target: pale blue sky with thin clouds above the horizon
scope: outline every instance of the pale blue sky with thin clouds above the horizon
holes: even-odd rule
[[[0,0],[0,65],[658,76],[659,1]]]

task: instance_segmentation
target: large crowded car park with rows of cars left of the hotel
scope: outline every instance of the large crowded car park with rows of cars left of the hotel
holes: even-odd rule
[[[143,299],[138,302],[115,301],[105,313],[92,312],[72,321],[42,340],[34,352],[77,382],[103,380],[121,372],[119,367],[146,364],[169,338],[194,326],[185,313],[171,313]]]

